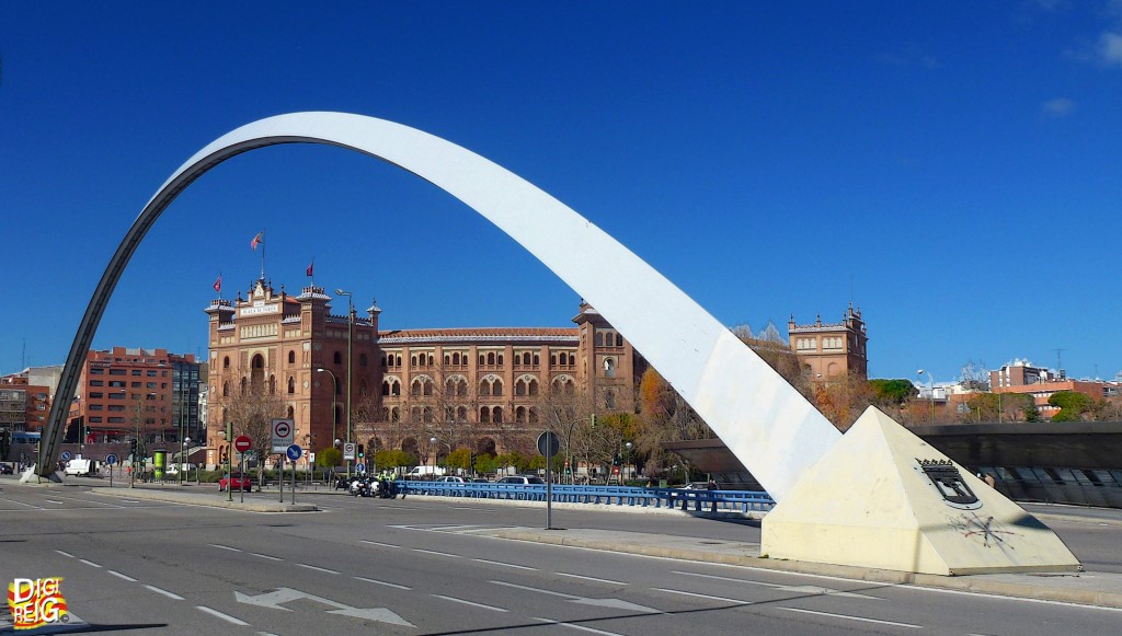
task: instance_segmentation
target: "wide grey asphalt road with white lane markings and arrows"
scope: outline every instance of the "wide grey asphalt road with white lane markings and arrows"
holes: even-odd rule
[[[1102,608],[489,536],[543,527],[535,508],[301,497],[323,511],[242,513],[0,481],[0,581],[63,577],[75,617],[67,627],[109,634],[1054,635],[1113,634],[1122,619]],[[662,515],[554,510],[553,525],[758,541],[753,524]],[[1120,532],[1070,525],[1075,538],[1065,540],[1077,554],[1075,541],[1106,545]]]

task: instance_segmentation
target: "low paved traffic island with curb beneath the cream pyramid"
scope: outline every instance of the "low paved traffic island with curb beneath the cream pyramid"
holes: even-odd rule
[[[552,545],[564,545],[570,547],[582,547],[588,550],[603,550],[607,552],[619,552],[625,554],[638,554],[643,556],[659,556],[663,559],[674,559],[679,561],[696,561],[701,563],[718,563],[724,565],[741,565],[760,570],[771,570],[776,572],[788,572],[795,574],[816,574],[824,577],[837,577],[858,581],[870,581],[888,584],[909,584],[925,588],[937,588],[944,590],[957,590],[975,593],[988,593],[995,596],[1014,597],[1022,599],[1048,600],[1058,602],[1069,602],[1077,605],[1088,605],[1095,607],[1122,608],[1122,593],[1109,592],[1093,589],[1064,588],[1032,582],[1033,579],[1094,579],[1093,572],[1069,573],[1069,574],[972,574],[964,577],[939,577],[937,574],[919,574],[913,572],[896,572],[894,570],[877,570],[873,568],[858,568],[853,565],[835,565],[829,563],[811,563],[807,561],[778,561],[765,559],[752,554],[721,554],[696,550],[689,547],[663,547],[657,545],[644,545],[642,542],[618,542],[608,540],[595,540],[579,536],[565,536],[561,534],[543,534],[540,532],[526,531],[499,531],[494,534],[499,538],[514,541],[527,541]],[[754,545],[743,544],[743,550],[758,550]],[[735,544],[734,544],[735,546]],[[735,547],[734,547],[735,549]],[[1001,577],[997,579],[996,577]],[[1009,580],[1015,577],[1021,581]]]

